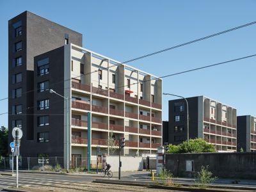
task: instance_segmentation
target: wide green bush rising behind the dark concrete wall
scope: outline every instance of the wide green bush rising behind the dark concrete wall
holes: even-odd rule
[[[214,145],[207,143],[202,138],[194,140],[183,141],[179,145],[168,145],[167,153],[202,153],[202,152],[216,152]]]

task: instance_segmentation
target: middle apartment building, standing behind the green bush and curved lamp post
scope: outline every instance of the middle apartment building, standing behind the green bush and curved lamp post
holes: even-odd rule
[[[204,138],[218,151],[236,151],[236,109],[216,100],[199,96],[187,98],[189,105],[189,138]],[[169,100],[168,142],[187,140],[187,106],[183,99]]]

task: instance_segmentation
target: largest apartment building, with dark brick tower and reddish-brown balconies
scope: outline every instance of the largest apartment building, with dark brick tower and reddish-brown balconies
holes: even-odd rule
[[[92,156],[96,155],[97,147],[109,154],[109,135],[116,144],[120,137],[125,137],[124,156],[156,152],[162,143],[161,79],[84,49],[80,33],[33,13],[24,12],[9,21],[9,38],[13,38],[13,24],[19,20],[26,24],[22,26],[27,29],[22,31],[22,45],[27,49],[22,47],[24,59],[19,67],[12,67],[12,60],[20,54],[12,56],[9,52],[10,76],[17,74],[13,70],[19,70],[23,76],[19,86],[18,82],[15,87],[9,83],[9,94],[19,95],[9,102],[9,112],[15,112],[9,125],[19,123],[25,133],[20,148],[22,156],[45,154],[68,156],[71,160],[87,157],[88,135]],[[30,37],[32,33],[34,36]],[[9,49],[16,42],[19,40],[12,39]],[[28,56],[33,61],[26,61]],[[22,92],[16,91],[16,86]]]

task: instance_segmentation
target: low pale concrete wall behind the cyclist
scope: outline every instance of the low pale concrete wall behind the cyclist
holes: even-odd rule
[[[119,157],[118,156],[107,156],[107,163],[111,164],[111,171],[118,172]],[[140,171],[143,170],[143,158],[142,157],[121,157],[122,161],[122,172],[128,171]]]

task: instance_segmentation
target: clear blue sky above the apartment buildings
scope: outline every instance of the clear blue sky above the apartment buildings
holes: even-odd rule
[[[256,1],[0,1],[0,99],[8,97],[8,20],[29,10],[83,34],[83,47],[118,61],[256,20]],[[164,76],[255,54],[256,25],[129,63]],[[163,79],[163,92],[205,95],[256,116],[256,58]],[[163,99],[163,120],[168,100]],[[8,101],[0,101],[0,113]],[[8,125],[0,115],[0,125]]]

